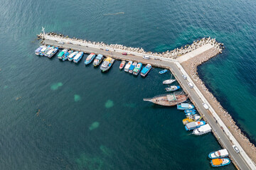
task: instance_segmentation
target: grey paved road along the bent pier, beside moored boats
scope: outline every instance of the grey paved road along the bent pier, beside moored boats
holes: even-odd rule
[[[55,40],[44,40],[44,42],[47,45],[55,45],[55,46],[61,46],[58,44],[57,41]],[[142,63],[149,63],[152,64],[156,67],[166,67],[170,68],[171,71],[173,72],[174,76],[176,79],[178,79],[179,83],[183,87],[183,90],[185,90],[188,94],[189,97],[191,98],[191,101],[194,101],[196,103],[196,108],[198,111],[203,114],[203,117],[206,119],[207,123],[210,124],[210,126],[213,128],[213,131],[215,134],[218,136],[218,140],[224,145],[226,149],[228,149],[228,152],[230,154],[230,157],[233,158],[233,161],[235,164],[238,166],[239,169],[246,170],[250,169],[250,166],[248,166],[247,162],[243,159],[241,154],[237,154],[235,150],[233,149],[232,145],[233,143],[229,140],[229,137],[223,132],[223,130],[220,128],[220,125],[216,122],[215,118],[213,118],[213,115],[210,113],[210,111],[206,110],[202,103],[202,99],[200,96],[198,96],[198,93],[195,91],[195,89],[190,89],[187,85],[187,80],[183,79],[181,69],[177,67],[176,62],[166,62],[166,61],[161,61],[161,60],[144,60],[142,57],[139,56],[134,56],[134,55],[122,55],[120,52],[114,52],[114,51],[106,51],[106,50],[101,50],[100,48],[95,48],[95,47],[85,47],[85,46],[80,46],[80,45],[73,45],[73,44],[68,44],[65,43],[65,45],[62,45],[65,48],[72,48],[73,50],[80,50],[84,52],[94,52],[96,54],[102,54],[105,56],[110,56],[117,58],[119,60],[133,60],[137,62],[142,62]],[[161,83],[161,82],[159,82]],[[150,96],[146,96],[150,97]],[[202,142],[203,145],[203,142]],[[243,152],[243,151],[241,151]],[[251,167],[253,165],[251,164]]]

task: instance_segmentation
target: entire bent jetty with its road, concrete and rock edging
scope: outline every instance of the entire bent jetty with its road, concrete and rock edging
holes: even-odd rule
[[[80,40],[78,38],[68,38],[68,36],[57,33],[41,33],[38,35],[38,39],[42,39],[43,45],[53,45],[59,48],[67,48],[72,50],[78,50],[85,53],[102,54],[106,57],[113,57],[118,60],[132,60],[136,62],[142,62],[143,64],[151,64],[155,67],[163,67],[170,69],[178,83],[183,88],[183,91],[188,94],[193,104],[196,106],[198,112],[201,114],[204,120],[213,129],[213,135],[217,138],[220,145],[225,149],[228,149],[230,159],[238,169],[256,169],[255,163],[250,159],[252,154],[249,146],[251,143],[244,143],[238,137],[234,137],[234,133],[230,132],[230,127],[227,127],[218,112],[213,106],[211,106],[211,99],[206,99],[204,91],[198,86],[196,79],[196,70],[193,70],[193,74],[189,72],[188,63],[193,59],[197,59],[198,56],[207,56],[207,59],[200,62],[206,62],[211,57],[218,55],[223,50],[223,44],[217,42],[213,38],[202,38],[201,40],[194,41],[191,45],[185,45],[184,47],[176,48],[166,52],[145,52],[140,47],[125,47],[124,45],[107,45],[104,42],[91,42],[89,40]],[[61,43],[59,43],[61,42]],[[127,52],[127,55],[122,55],[123,52]],[[149,60],[143,59],[144,55],[150,57]],[[192,63],[193,64],[193,63]],[[193,68],[196,68],[198,64],[193,64]],[[183,79],[182,75],[186,75],[187,79]],[[198,80],[199,81],[199,80]],[[190,88],[187,84],[191,82],[195,84],[193,88]],[[203,107],[203,103],[208,105],[208,109]],[[239,140],[239,142],[238,142]],[[233,149],[233,145],[236,145],[240,149],[240,154],[237,154]],[[249,148],[249,149],[248,149]],[[245,152],[246,151],[246,152]],[[248,156],[250,154],[250,157]]]

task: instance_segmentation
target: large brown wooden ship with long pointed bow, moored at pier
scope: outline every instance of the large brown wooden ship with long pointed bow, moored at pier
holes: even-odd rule
[[[154,96],[153,98],[143,98],[143,100],[150,101],[161,106],[175,106],[178,103],[186,101],[187,98],[188,96],[182,92],[174,92],[173,94],[161,94],[158,96]]]

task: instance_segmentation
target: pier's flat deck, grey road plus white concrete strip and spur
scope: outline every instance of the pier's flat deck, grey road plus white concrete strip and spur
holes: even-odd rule
[[[203,118],[212,127],[213,134],[215,135],[217,140],[220,142],[221,145],[223,145],[226,149],[228,149],[230,157],[233,159],[233,163],[238,167],[238,169],[242,169],[242,170],[256,169],[255,164],[252,162],[250,157],[247,156],[245,151],[239,145],[238,141],[235,140],[235,137],[233,137],[230,130],[228,130],[228,128],[225,126],[223,121],[219,118],[217,113],[215,113],[213,108],[210,106],[210,103],[208,103],[208,101],[203,96],[201,91],[196,86],[194,86],[194,88],[191,89],[187,85],[188,81],[190,82],[193,82],[193,81],[188,76],[186,71],[183,69],[180,62],[186,61],[191,57],[196,57],[196,55],[202,52],[205,52],[206,50],[209,50],[210,48],[213,47],[210,44],[206,44],[206,45],[203,45],[202,47],[199,47],[197,51],[194,50],[192,52],[188,52],[186,56],[183,55],[179,57],[178,60],[172,60],[164,57],[157,57],[154,55],[151,55],[150,60],[144,60],[142,58],[143,54],[139,52],[129,52],[129,51],[127,52],[124,50],[116,50],[111,48],[106,49],[106,47],[101,47],[98,45],[83,44],[82,42],[75,42],[75,40],[65,41],[64,38],[54,38],[53,36],[50,36],[50,35],[46,35],[44,38],[45,40],[43,40],[43,43],[46,45],[54,45],[56,47],[61,47],[61,48],[72,48],[73,50],[80,50],[87,53],[94,52],[96,54],[102,54],[107,57],[114,57],[119,60],[132,60],[132,61],[142,62],[143,64],[149,63],[156,67],[164,67],[164,68],[170,69],[171,72],[174,74],[174,77],[176,77],[177,81],[182,86],[183,90],[186,91],[191,101],[193,101],[193,103],[195,104],[196,108],[198,109],[198,112],[201,113],[201,115],[203,115]],[[58,41],[63,41],[65,42],[65,44],[60,45]],[[109,51],[106,51],[106,50],[109,50]],[[127,52],[128,55],[122,55],[122,52]],[[183,79],[182,77],[183,74],[185,74],[186,77],[188,77],[187,80]],[[207,103],[209,106],[209,109],[206,110],[206,108],[203,107],[202,103]],[[236,145],[240,149],[240,154],[237,154],[235,152],[232,145]]]

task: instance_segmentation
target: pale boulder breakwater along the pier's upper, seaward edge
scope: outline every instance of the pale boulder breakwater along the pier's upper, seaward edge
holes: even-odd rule
[[[63,34],[57,34],[57,33],[46,33],[46,35],[50,35],[50,36],[54,36],[56,38],[63,38],[65,40],[73,40],[73,41],[77,41],[77,42],[84,42],[84,43],[88,43],[91,45],[99,45],[102,47],[110,47],[110,48],[114,48],[117,50],[126,50],[129,52],[139,52],[142,53],[144,55],[154,55],[157,57],[164,57],[164,58],[169,58],[169,59],[176,59],[178,57],[180,57],[181,55],[185,55],[188,52],[191,52],[193,50],[198,49],[198,47],[202,47],[203,45],[206,45],[208,43],[210,43],[211,45],[214,45],[214,47],[216,48],[216,50],[218,50],[218,52],[222,52],[223,50],[223,43],[217,42],[215,40],[215,38],[202,38],[201,40],[197,40],[194,41],[191,45],[185,45],[184,47],[180,47],[180,48],[176,48],[174,50],[167,50],[166,52],[145,52],[144,49],[142,47],[126,47],[124,45],[118,45],[118,44],[110,44],[107,45],[104,42],[91,42],[89,40],[81,40],[78,38],[69,38],[68,35],[63,35]],[[38,39],[43,39],[44,34],[41,33],[40,35],[37,35]]]

